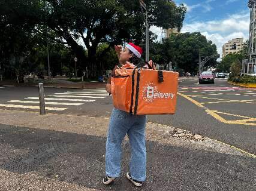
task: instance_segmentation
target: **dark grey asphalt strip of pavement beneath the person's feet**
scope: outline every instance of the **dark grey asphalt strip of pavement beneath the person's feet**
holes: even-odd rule
[[[15,190],[46,190],[38,180],[22,178],[29,172],[50,178],[48,181],[58,180],[97,190],[255,190],[255,159],[250,157],[147,141],[147,180],[143,187],[135,188],[125,178],[130,156],[129,144],[125,141],[121,177],[114,184],[104,186],[101,181],[106,138],[1,124],[0,132],[0,170],[19,174],[19,179],[11,182]],[[4,181],[8,179],[4,177]],[[29,187],[34,187],[23,189],[25,181],[31,184]],[[57,186],[55,190],[63,190]]]

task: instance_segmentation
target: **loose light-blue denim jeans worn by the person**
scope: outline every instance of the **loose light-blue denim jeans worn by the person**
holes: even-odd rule
[[[110,118],[106,144],[106,175],[119,177],[121,172],[122,141],[129,137],[131,161],[129,171],[131,178],[146,180],[146,115],[130,115],[119,109],[113,109]]]

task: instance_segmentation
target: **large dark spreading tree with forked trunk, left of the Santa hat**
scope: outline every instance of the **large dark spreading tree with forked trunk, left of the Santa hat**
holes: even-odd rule
[[[177,7],[165,0],[145,2],[149,21],[156,21],[157,26],[164,28],[182,27],[186,12],[183,5]],[[71,47],[80,65],[87,66],[91,75],[96,75],[98,44],[109,45],[100,55],[103,57],[114,44],[122,41],[140,44],[144,38],[144,18],[135,0],[9,0],[4,5],[1,13],[10,23],[34,26],[39,35],[41,26],[49,27],[55,41]],[[87,54],[79,39],[85,44]]]

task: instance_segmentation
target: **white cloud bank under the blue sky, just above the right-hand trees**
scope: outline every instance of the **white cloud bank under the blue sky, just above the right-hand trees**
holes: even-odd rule
[[[227,19],[184,24],[182,32],[201,32],[216,44],[222,55],[222,45],[232,38],[249,37],[249,13],[242,12],[227,16]]]

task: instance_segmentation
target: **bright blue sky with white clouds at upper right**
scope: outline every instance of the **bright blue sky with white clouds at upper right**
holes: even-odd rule
[[[181,32],[201,32],[216,44],[222,56],[222,45],[232,38],[249,38],[248,0],[174,0],[184,4],[187,13]],[[151,27],[162,38],[162,30]]]

